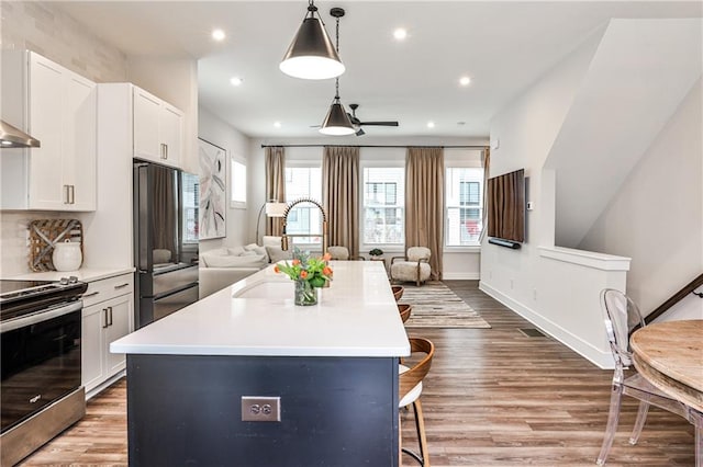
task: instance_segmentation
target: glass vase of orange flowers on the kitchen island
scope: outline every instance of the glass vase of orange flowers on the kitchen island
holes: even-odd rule
[[[332,267],[327,264],[330,254],[311,258],[306,253],[295,251],[294,259],[274,266],[277,273],[283,273],[295,282],[295,305],[316,305],[317,289],[332,281]]]

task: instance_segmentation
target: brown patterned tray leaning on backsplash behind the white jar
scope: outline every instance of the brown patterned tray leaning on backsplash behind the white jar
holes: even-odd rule
[[[34,272],[56,271],[52,254],[58,242],[80,242],[83,254],[83,226],[78,219],[37,219],[30,223],[29,229],[30,269]]]

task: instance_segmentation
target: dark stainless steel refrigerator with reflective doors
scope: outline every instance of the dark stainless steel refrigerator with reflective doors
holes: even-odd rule
[[[142,328],[198,300],[198,176],[134,160],[134,264]]]

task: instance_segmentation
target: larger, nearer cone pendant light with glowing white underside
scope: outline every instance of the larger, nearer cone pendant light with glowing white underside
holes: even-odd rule
[[[313,0],[310,0],[308,14],[278,67],[286,75],[301,79],[330,79],[344,72],[344,64]]]

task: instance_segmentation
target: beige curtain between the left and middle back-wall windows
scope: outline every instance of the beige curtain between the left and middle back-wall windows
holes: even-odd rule
[[[325,147],[322,200],[327,212],[327,244],[359,255],[359,148]]]

